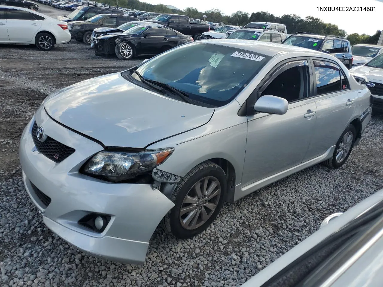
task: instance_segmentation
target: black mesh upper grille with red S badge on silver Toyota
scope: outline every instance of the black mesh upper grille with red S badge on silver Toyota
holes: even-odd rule
[[[36,132],[37,124],[34,122],[32,127],[33,142],[39,153],[42,153],[50,160],[59,163],[74,153],[74,148],[68,147],[61,142],[57,142],[57,140],[54,140],[51,137],[47,137],[44,142],[40,142],[37,138]]]

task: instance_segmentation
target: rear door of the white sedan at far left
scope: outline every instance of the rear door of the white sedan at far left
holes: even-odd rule
[[[34,42],[34,36],[41,28],[28,11],[8,8],[7,30],[11,42]]]

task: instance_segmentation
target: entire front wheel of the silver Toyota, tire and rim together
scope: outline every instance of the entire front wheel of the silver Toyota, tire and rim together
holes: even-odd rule
[[[214,187],[213,183],[217,185]],[[200,187],[200,196],[198,196],[195,186]],[[218,190],[220,193],[211,199],[208,199],[208,196],[202,197],[204,190],[208,192],[211,187],[213,189],[210,194],[216,194]],[[170,200],[175,206],[162,219],[162,227],[179,239],[191,238],[203,232],[221,210],[226,188],[226,174],[219,165],[211,161],[197,165],[180,180],[170,196]],[[198,197],[201,199],[198,200]],[[206,199],[208,200],[206,201]],[[185,200],[188,202],[184,202]],[[214,209],[211,209],[212,207]],[[180,214],[182,209],[184,214]],[[185,212],[186,210],[188,211]],[[206,219],[203,219],[203,214],[207,216]],[[193,223],[195,224],[193,225]]]

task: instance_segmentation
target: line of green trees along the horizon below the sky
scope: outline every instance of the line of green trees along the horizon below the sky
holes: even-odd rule
[[[346,31],[339,29],[337,25],[331,23],[324,23],[321,19],[315,18],[312,16],[307,16],[302,19],[300,16],[291,14],[291,15],[282,15],[275,16],[265,11],[251,13],[237,11],[231,15],[224,15],[224,13],[219,9],[206,10],[204,12],[198,11],[196,8],[188,7],[184,10],[175,10],[170,9],[165,5],[152,5],[149,3],[141,2],[138,0],[105,0],[106,4],[119,7],[125,7],[129,9],[136,9],[140,11],[147,12],[157,12],[157,13],[177,13],[182,15],[187,15],[190,18],[204,19],[203,15],[207,15],[206,21],[211,22],[223,22],[228,25],[237,25],[244,26],[249,22],[274,22],[282,23],[286,25],[288,33],[296,32],[308,32],[319,35],[336,35],[346,37],[352,45],[364,43],[364,44],[377,44],[381,31],[376,31],[373,36],[367,34],[349,34],[347,35]]]

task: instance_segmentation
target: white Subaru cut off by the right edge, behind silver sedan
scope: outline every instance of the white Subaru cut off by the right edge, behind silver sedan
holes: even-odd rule
[[[359,82],[366,82],[366,86],[373,97],[373,110],[383,112],[383,53],[365,65],[351,68],[350,73],[356,79],[361,76]]]

